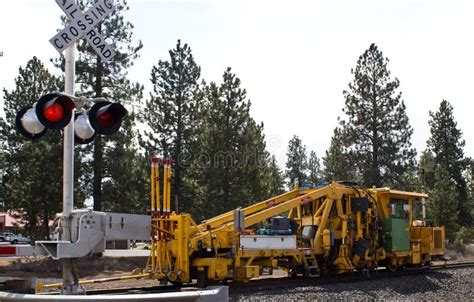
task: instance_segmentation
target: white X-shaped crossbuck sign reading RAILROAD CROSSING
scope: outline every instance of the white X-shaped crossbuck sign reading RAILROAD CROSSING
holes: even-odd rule
[[[115,51],[94,29],[97,23],[104,20],[115,9],[112,0],[98,0],[85,13],[81,11],[74,0],[56,0],[56,3],[70,20],[66,27],[49,40],[59,53],[62,53],[80,38],[85,37],[102,60],[108,61],[113,58]]]

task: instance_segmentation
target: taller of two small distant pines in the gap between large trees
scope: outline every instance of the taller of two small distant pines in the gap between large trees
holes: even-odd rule
[[[288,142],[288,151],[286,152],[286,171],[288,188],[292,188],[295,183],[302,186],[307,179],[308,162],[306,156],[306,146],[301,139],[293,135]]]

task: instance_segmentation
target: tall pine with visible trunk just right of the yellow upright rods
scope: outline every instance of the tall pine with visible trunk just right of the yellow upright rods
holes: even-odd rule
[[[182,45],[180,40],[169,54],[169,61],[160,60],[151,72],[153,93],[143,114],[150,131],[145,131],[141,144],[148,154],[161,153],[174,160],[172,194],[179,200],[180,207],[186,209],[192,195],[186,172],[191,164],[200,106],[201,68],[194,61],[191,48]]]

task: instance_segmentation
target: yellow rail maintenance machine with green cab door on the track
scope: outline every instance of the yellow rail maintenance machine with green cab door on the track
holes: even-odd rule
[[[153,158],[152,241],[143,271],[149,278],[175,284],[197,279],[205,286],[248,281],[274,268],[308,277],[394,271],[444,254],[444,227],[425,223],[426,194],[333,182],[294,188],[197,224],[171,211],[170,177],[171,161]]]

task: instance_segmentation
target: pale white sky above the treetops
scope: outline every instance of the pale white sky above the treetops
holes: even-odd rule
[[[150,90],[152,66],[168,59],[177,39],[192,47],[206,81],[220,82],[231,66],[280,163],[293,134],[324,155],[350,70],[372,42],[401,82],[416,149],[426,146],[428,112],[447,99],[465,154],[474,156],[474,1],[130,0],[129,6],[126,17],[144,44],[130,79]],[[60,15],[53,0],[0,1],[1,88],[14,87],[18,67],[32,56],[54,71],[49,58],[57,53],[48,40]]]

